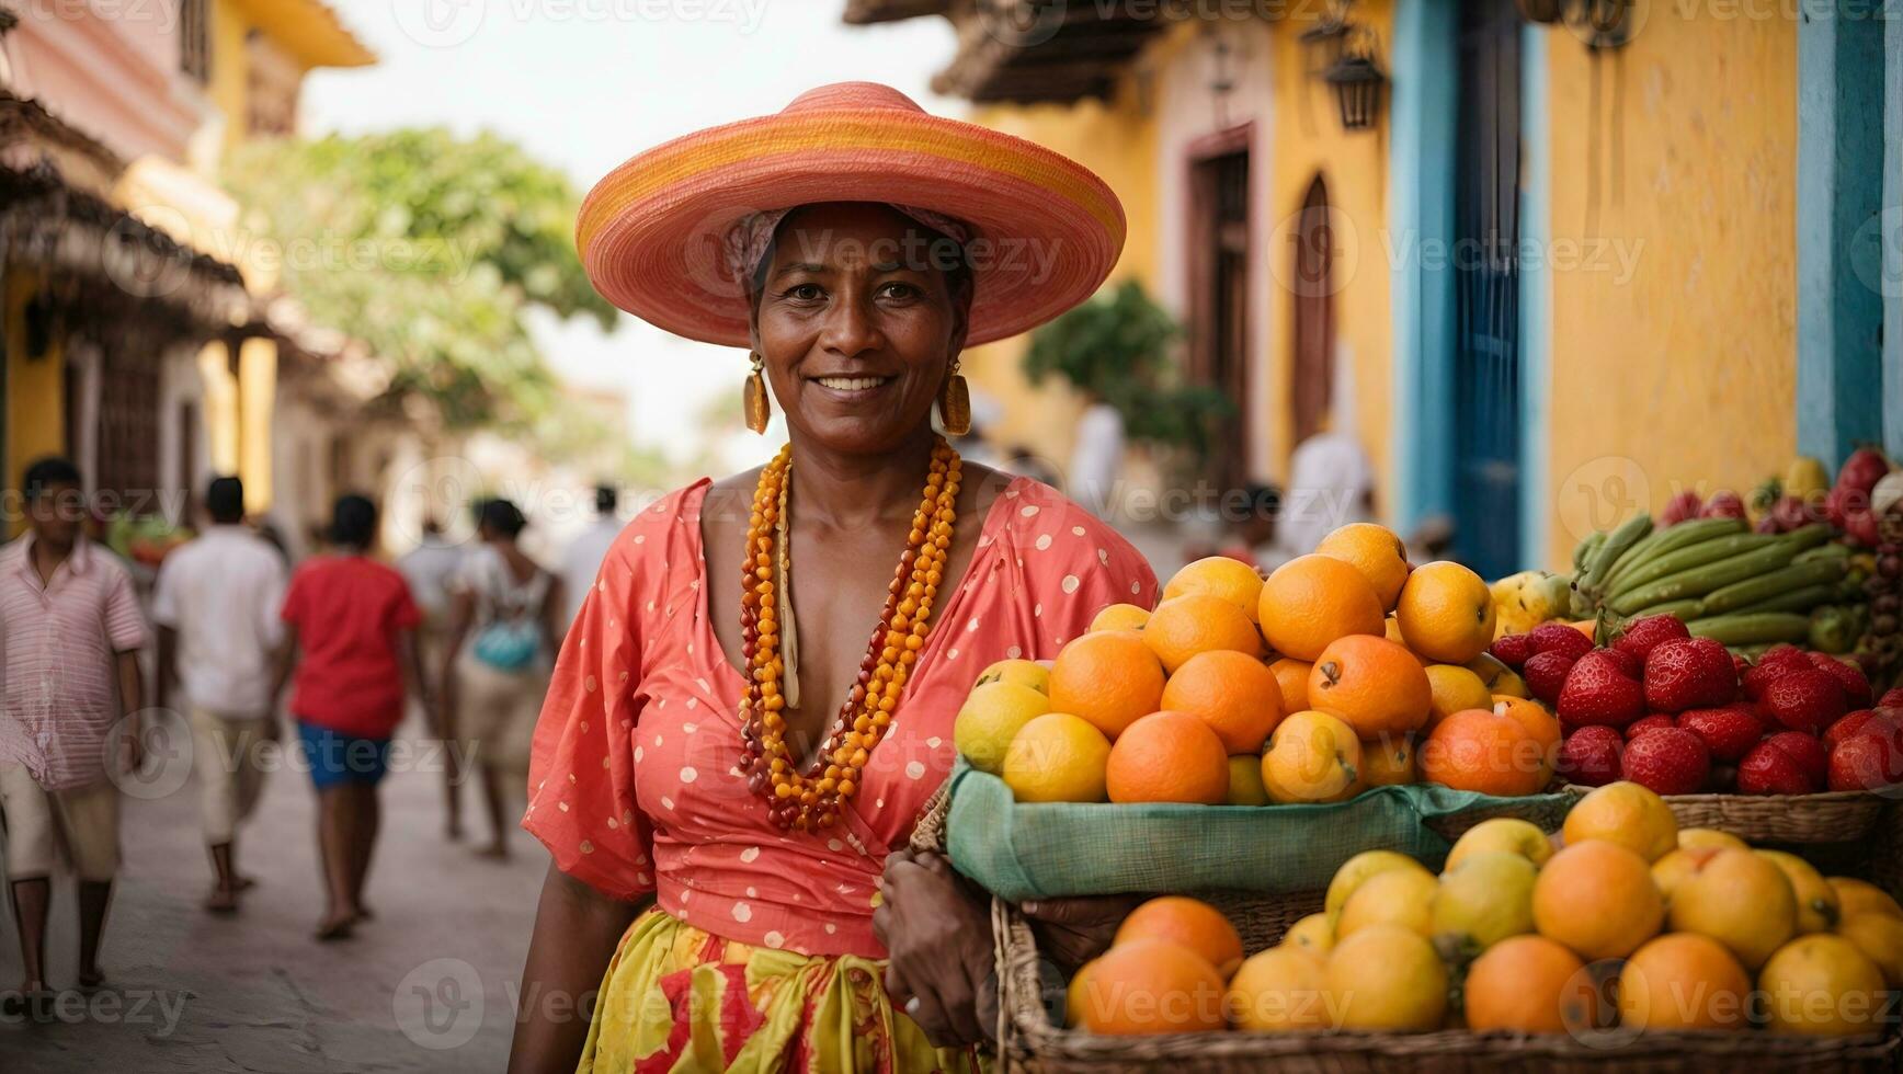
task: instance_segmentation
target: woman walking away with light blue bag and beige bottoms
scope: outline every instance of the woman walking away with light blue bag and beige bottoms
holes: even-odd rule
[[[440,667],[443,738],[466,743],[451,751],[449,831],[462,827],[461,758],[474,758],[489,812],[485,857],[508,857],[502,819],[504,781],[521,779],[529,738],[548,684],[548,654],[561,644],[561,582],[516,544],[527,519],[508,500],[478,509],[476,547],[449,582],[449,635]],[[474,629],[474,641],[470,641]],[[520,785],[520,783],[518,783]]]

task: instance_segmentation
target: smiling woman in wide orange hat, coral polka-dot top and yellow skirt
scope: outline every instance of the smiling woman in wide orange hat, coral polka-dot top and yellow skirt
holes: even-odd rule
[[[1094,291],[1123,209],[1049,150],[841,84],[630,160],[577,232],[613,302],[748,346],[748,424],[771,382],[792,443],[641,511],[569,629],[523,819],[554,855],[523,994],[599,998],[586,1023],[531,1004],[510,1070],[974,1068],[982,893],[900,848],[978,671],[1054,656],[1155,578],[931,418],[965,432],[967,344]],[[1077,954],[1115,924],[1033,912]]]

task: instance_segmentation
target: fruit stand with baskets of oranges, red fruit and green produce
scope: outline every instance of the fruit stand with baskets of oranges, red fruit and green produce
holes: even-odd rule
[[[1351,525],[988,667],[915,838],[995,895],[1007,1064],[1895,1070],[1899,477],[1492,585]],[[1085,966],[1018,911],[1113,893]]]

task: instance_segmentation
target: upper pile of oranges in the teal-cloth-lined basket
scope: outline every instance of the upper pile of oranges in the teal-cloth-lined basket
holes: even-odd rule
[[[1494,597],[1355,523],[1267,578],[1199,559],[1049,665],[993,663],[955,741],[1020,802],[1338,802],[1431,781],[1532,795],[1560,726],[1503,663]]]

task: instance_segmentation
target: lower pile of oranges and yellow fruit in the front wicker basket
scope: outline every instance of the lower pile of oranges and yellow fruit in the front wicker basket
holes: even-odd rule
[[[1848,1036],[1903,985],[1903,907],[1791,853],[1678,831],[1637,783],[1579,800],[1560,833],[1500,817],[1437,876],[1347,859],[1321,912],[1245,958],[1231,922],[1151,899],[1069,985],[1069,1025],[1199,1030],[1747,1030]]]

